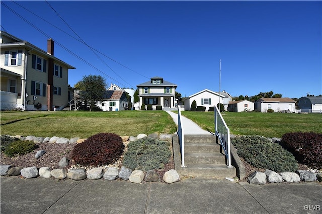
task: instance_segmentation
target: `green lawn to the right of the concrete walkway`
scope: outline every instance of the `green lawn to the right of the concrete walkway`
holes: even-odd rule
[[[182,111],[181,114],[214,132],[214,112]],[[223,118],[232,134],[282,137],[289,132],[322,133],[322,114],[225,112]]]

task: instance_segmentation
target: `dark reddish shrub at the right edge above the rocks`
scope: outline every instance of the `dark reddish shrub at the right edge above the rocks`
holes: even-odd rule
[[[314,132],[286,133],[282,136],[283,146],[299,163],[322,168],[322,134]]]

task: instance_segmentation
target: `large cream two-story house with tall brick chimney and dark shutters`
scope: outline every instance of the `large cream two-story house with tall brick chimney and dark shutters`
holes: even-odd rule
[[[68,104],[68,71],[73,66],[7,32],[0,32],[1,109],[54,110]]]

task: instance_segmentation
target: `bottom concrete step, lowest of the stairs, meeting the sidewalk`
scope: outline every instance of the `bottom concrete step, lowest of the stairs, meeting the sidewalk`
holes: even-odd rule
[[[186,164],[180,169],[180,175],[193,177],[233,178],[236,176],[236,168],[228,168],[224,164]]]

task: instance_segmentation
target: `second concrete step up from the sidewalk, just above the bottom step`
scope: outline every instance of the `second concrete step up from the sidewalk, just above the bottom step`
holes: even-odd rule
[[[226,164],[226,157],[221,153],[186,153],[186,164]]]

